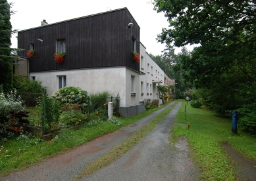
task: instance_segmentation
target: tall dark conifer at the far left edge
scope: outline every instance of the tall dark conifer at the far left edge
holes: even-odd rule
[[[12,26],[10,22],[10,11],[12,3],[7,0],[0,0],[0,85],[3,84],[5,91],[13,89],[13,59],[11,55],[11,34]]]

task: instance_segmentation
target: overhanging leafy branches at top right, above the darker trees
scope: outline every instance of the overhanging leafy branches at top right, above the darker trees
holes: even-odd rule
[[[241,31],[256,31],[253,0],[155,0],[153,4],[170,22],[170,29],[163,29],[159,41],[174,42],[176,47],[226,41]]]

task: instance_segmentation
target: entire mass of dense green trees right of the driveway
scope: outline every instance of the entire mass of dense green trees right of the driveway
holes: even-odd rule
[[[182,77],[204,89],[207,106],[220,115],[238,110],[239,123],[256,132],[256,4],[253,1],[155,0],[170,23],[158,36],[177,47],[197,44],[180,58]]]

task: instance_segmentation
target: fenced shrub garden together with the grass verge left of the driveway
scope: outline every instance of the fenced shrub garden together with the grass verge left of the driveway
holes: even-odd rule
[[[107,102],[110,101],[115,111],[111,120],[107,117]],[[160,109],[151,106],[150,110],[140,115],[120,117],[118,94],[116,97],[111,97],[109,92],[88,94],[76,87],[65,87],[51,96],[16,91],[1,93],[0,105],[1,120],[5,120],[5,129],[0,132],[0,176],[64,153]],[[52,134],[53,138],[44,140],[28,131],[9,131],[11,122],[19,124],[14,115],[20,111],[29,114],[28,117],[22,117],[29,121],[24,123],[24,127],[39,127],[41,132]],[[3,126],[1,122],[1,128]]]

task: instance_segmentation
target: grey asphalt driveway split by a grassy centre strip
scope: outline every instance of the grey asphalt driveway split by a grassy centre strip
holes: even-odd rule
[[[94,161],[113,146],[120,144],[133,132],[138,131],[166,108],[128,125],[116,132],[101,136],[63,155],[38,163],[24,171],[18,171],[0,180],[72,180],[85,165]],[[159,125],[130,152],[108,167],[82,180],[197,180],[198,169],[188,157],[190,152],[186,138],[182,138],[170,150],[169,131],[180,108],[178,103]]]

